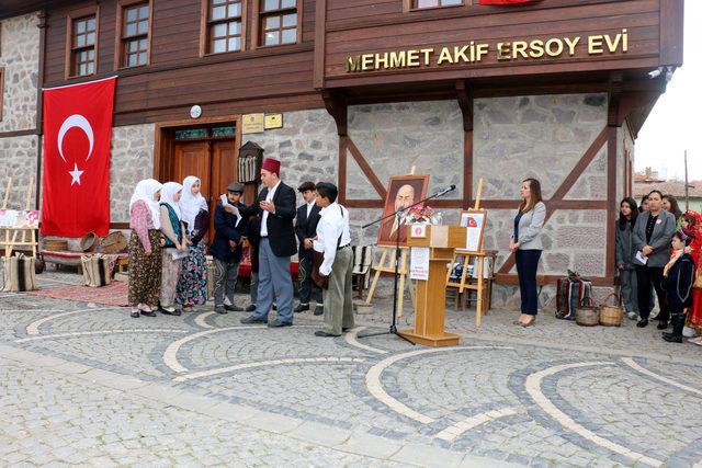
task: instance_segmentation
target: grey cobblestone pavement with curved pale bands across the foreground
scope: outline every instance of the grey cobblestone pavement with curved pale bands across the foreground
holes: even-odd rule
[[[0,293],[0,465],[702,464],[702,347],[509,311],[479,331],[449,311],[461,345],[412,346],[361,338],[389,324],[374,309],[320,339],[309,312],[268,329]]]

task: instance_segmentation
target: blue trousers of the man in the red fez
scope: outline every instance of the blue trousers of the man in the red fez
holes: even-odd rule
[[[290,276],[290,256],[276,256],[269,240],[261,239],[259,246],[259,284],[256,301],[257,319],[268,319],[268,312],[278,304],[278,319],[293,322],[293,278]]]

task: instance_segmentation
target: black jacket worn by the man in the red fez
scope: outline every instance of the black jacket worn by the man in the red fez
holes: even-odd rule
[[[263,187],[256,198],[256,203],[241,210],[244,216],[258,215],[260,222],[263,210],[259,204],[265,199],[267,195],[268,187]],[[273,204],[275,205],[275,214],[269,213],[267,221],[268,240],[271,244],[271,250],[275,256],[292,256],[297,253],[295,228],[293,227],[293,219],[295,219],[295,190],[281,182],[275,195],[273,195]]]

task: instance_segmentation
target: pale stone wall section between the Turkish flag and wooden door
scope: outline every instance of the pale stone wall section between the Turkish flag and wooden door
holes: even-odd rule
[[[112,129],[110,219],[129,221],[129,198],[137,182],[154,176],[154,124]]]

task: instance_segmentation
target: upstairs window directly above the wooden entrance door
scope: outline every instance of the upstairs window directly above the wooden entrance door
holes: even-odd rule
[[[208,0],[207,36],[210,54],[244,48],[241,0]]]

